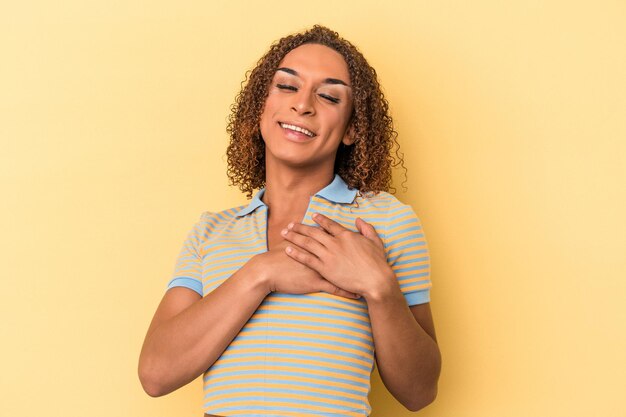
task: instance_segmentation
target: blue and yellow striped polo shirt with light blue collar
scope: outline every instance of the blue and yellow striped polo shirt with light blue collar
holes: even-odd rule
[[[205,212],[189,233],[168,288],[206,295],[267,251],[268,208],[260,190],[247,206]],[[311,197],[314,212],[357,231],[361,217],[382,238],[408,305],[429,301],[429,256],[419,219],[391,194],[361,194],[339,177]],[[237,306],[233,306],[237,308]],[[324,292],[271,293],[204,373],[204,411],[221,416],[368,416],[374,365],[364,299]]]

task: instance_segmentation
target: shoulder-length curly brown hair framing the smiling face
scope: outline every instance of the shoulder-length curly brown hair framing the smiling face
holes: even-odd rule
[[[278,65],[291,50],[303,44],[320,44],[341,54],[348,65],[353,91],[353,110],[348,129],[354,143],[339,146],[335,173],[360,192],[395,191],[391,187],[391,168],[404,160],[397,142],[397,132],[372,68],[359,50],[324,26],[289,35],[275,42],[246,73],[242,89],[231,106],[226,131],[230,143],[226,151],[230,185],[237,185],[250,198],[265,186],[265,143],[259,122],[269,86]]]

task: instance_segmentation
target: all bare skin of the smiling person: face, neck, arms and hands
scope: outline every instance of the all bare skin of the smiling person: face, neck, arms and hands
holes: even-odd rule
[[[141,383],[149,395],[160,396],[201,375],[270,292],[325,291],[365,298],[383,382],[404,406],[422,408],[435,398],[440,369],[429,305],[406,305],[371,225],[358,219],[355,233],[322,215],[314,218],[321,230],[300,223],[310,197],[333,179],[339,144],[352,143],[347,65],[336,51],[307,44],[279,67],[260,121],[268,251],[205,297],[187,288],[167,291],[140,355]],[[306,128],[313,137],[280,123]],[[229,308],[234,304],[240,307]]]

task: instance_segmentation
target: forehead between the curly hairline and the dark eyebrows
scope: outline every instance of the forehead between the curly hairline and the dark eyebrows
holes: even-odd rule
[[[350,81],[343,56],[328,46],[304,44],[289,51],[278,65],[294,69],[304,77],[338,78]]]

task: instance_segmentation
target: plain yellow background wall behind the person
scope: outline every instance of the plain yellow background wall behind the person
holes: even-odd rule
[[[377,69],[443,353],[423,416],[623,416],[626,3],[4,2],[0,416],[200,416],[139,349],[187,231],[240,204],[246,70],[322,23]],[[409,416],[378,379],[374,416]]]

